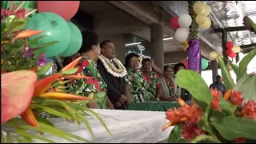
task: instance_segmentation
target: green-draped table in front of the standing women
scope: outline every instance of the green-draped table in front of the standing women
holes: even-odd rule
[[[190,103],[190,102],[186,102]],[[146,111],[167,111],[174,107],[178,108],[180,105],[178,102],[165,102],[165,101],[152,101],[142,103],[131,103],[128,110],[146,110]]]

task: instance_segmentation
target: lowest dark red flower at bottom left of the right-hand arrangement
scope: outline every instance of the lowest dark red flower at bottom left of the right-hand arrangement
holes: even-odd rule
[[[182,137],[186,138],[187,140],[191,140],[197,137],[200,134],[206,134],[205,131],[198,128],[196,124],[183,124],[182,125]]]

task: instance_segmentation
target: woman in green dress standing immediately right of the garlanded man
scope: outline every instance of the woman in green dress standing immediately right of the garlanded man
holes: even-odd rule
[[[149,102],[150,98],[146,92],[148,83],[139,70],[138,58],[138,54],[135,53],[126,55],[126,89],[130,91],[131,102]]]

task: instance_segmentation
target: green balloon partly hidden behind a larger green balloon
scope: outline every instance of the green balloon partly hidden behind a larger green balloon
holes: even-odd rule
[[[76,54],[82,46],[82,34],[78,29],[78,26],[75,26],[72,22],[67,22],[67,24],[70,26],[71,33],[70,46],[68,46],[62,54],[58,55],[60,57],[70,57],[71,55]]]

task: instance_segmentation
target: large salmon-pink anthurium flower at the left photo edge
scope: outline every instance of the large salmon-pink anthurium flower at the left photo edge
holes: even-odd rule
[[[18,70],[2,74],[1,123],[22,114],[30,105],[37,74],[31,70]]]

